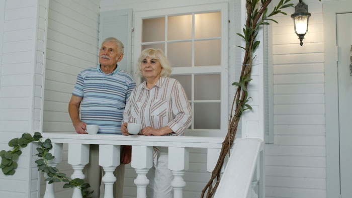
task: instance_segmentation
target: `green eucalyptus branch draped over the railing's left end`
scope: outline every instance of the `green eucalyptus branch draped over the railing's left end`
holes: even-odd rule
[[[39,132],[34,133],[33,137],[29,133],[24,133],[21,138],[14,138],[9,141],[9,146],[14,147],[12,151],[0,151],[0,156],[2,158],[0,168],[5,175],[15,174],[18,167],[17,161],[22,154],[20,149],[27,147],[31,142],[38,142],[39,147],[36,148],[38,151],[36,155],[40,159],[36,160],[35,163],[37,164],[38,171],[45,172],[48,175],[48,178],[46,178],[45,181],[49,181],[49,184],[61,181],[65,182],[63,188],[77,187],[81,190],[83,198],[87,198],[89,194],[93,193],[93,191],[87,190],[87,188],[91,186],[89,183],[84,183],[83,179],[71,179],[67,177],[65,173],[59,172],[57,168],[48,165],[48,162],[55,158],[55,156],[50,153],[50,150],[52,149],[51,140],[46,139],[43,142],[42,136]]]

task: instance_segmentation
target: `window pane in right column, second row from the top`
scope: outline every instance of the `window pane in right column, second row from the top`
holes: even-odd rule
[[[220,65],[220,40],[196,41],[194,51],[195,66]]]

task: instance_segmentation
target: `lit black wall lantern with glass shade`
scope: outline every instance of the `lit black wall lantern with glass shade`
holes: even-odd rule
[[[291,15],[293,24],[295,26],[295,32],[298,39],[301,41],[300,45],[303,45],[303,39],[308,32],[308,20],[310,13],[308,13],[308,5],[299,0],[299,3],[295,7],[295,13]]]

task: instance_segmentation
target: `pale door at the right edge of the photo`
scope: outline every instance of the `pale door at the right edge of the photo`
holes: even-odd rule
[[[337,14],[341,197],[352,196],[352,13]]]

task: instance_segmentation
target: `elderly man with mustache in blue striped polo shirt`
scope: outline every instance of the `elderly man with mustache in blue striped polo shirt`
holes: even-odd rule
[[[136,83],[129,73],[119,69],[124,46],[116,38],[104,40],[99,53],[100,65],[84,69],[77,76],[68,113],[79,134],[85,134],[86,125],[99,125],[98,134],[121,134],[122,114]],[[81,117],[79,118],[79,110]],[[87,182],[100,196],[102,169],[99,166],[99,145],[90,146],[90,163],[85,167]],[[131,161],[131,146],[123,148],[121,165],[115,170],[117,181],[114,197],[122,198],[125,165]]]

